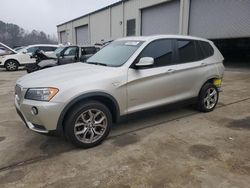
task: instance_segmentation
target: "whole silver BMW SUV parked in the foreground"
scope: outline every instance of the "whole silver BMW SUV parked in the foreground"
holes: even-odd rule
[[[100,144],[121,116],[196,98],[212,111],[224,74],[223,56],[208,40],[161,35],[118,39],[85,63],[20,78],[15,105],[26,126],[57,131],[78,147]]]

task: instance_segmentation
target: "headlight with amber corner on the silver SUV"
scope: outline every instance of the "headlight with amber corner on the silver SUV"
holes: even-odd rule
[[[36,101],[50,101],[57,93],[57,88],[31,88],[25,94],[25,99]]]

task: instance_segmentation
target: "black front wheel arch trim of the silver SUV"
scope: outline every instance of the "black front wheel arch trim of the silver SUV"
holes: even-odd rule
[[[58,122],[57,122],[57,131],[63,133],[64,131],[64,120],[67,117],[69,111],[74,108],[80,102],[84,102],[87,100],[95,100],[103,103],[107,106],[112,114],[113,122],[117,122],[120,116],[120,108],[116,99],[110,94],[104,92],[91,92],[87,94],[80,95],[73,100],[71,100],[61,112]]]

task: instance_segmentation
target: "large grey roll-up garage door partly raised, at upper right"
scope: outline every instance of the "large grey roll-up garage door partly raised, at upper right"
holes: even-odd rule
[[[250,37],[250,1],[191,0],[189,34],[209,39]]]

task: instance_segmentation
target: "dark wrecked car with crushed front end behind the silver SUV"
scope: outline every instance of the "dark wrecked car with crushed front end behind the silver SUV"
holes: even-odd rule
[[[66,46],[59,47],[53,54],[46,55],[43,51],[36,51],[36,63],[26,65],[28,73],[38,70],[65,65],[75,62],[84,62],[99,51],[95,46]]]

